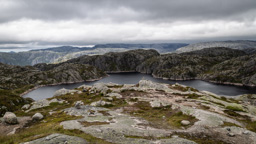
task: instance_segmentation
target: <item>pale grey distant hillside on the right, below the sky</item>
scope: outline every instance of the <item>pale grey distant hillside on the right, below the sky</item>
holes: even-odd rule
[[[212,48],[212,47],[227,47],[232,49],[243,50],[247,53],[252,53],[256,51],[256,41],[239,40],[239,41],[202,42],[202,43],[190,44],[188,46],[179,48],[176,50],[176,52],[178,53],[190,52],[190,51],[196,51],[196,50],[201,50],[204,48]]]

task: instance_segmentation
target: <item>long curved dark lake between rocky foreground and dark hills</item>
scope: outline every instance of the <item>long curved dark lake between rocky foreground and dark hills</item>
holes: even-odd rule
[[[150,74],[143,74],[139,72],[119,72],[119,73],[108,73],[107,76],[98,78],[98,79],[90,79],[86,81],[79,81],[79,82],[72,82],[72,83],[58,83],[58,84],[50,84],[50,85],[40,85],[36,86],[32,89],[27,90],[22,94],[23,97],[31,97],[33,98],[34,96],[41,96],[44,97],[53,95],[55,91],[61,89],[61,88],[66,88],[66,89],[74,89],[76,87],[79,87],[80,85],[93,85],[95,83],[108,83],[108,82],[113,82],[117,84],[137,84],[139,80],[141,79],[147,79],[152,82],[156,83],[166,83],[166,84],[175,84],[176,82],[185,85],[188,87],[193,87],[195,89],[198,89],[199,91],[208,91],[211,93],[214,93],[216,95],[222,95],[222,96],[239,96],[243,94],[256,94],[256,90],[253,89],[252,87],[247,87],[247,86],[237,86],[237,85],[231,85],[231,84],[221,84],[221,83],[213,83],[209,82],[206,80],[201,80],[201,79],[189,79],[189,80],[169,80],[166,78],[159,78],[159,77],[154,77],[153,75]],[[96,81],[96,82],[94,82]],[[67,85],[65,85],[67,84]],[[63,86],[62,86],[63,85]],[[41,88],[41,87],[47,87],[48,88]],[[51,87],[53,86],[53,87]],[[37,90],[38,89],[38,90]],[[35,92],[31,91],[35,90]],[[45,92],[44,92],[45,91]],[[46,94],[48,92],[46,91],[51,91],[50,94]],[[46,97],[47,97],[46,96]],[[34,98],[33,98],[34,99]]]

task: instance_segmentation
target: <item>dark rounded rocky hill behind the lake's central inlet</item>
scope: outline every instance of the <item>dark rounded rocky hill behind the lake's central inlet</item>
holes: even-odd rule
[[[155,50],[140,49],[105,55],[82,56],[72,59],[68,63],[89,64],[108,72],[136,71],[139,64],[155,56],[159,56]]]

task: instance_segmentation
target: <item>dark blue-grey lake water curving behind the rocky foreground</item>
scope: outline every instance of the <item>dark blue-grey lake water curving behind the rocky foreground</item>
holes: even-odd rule
[[[206,91],[209,91],[218,95],[223,95],[223,96],[256,94],[255,88],[219,85],[219,84],[213,84],[213,83],[209,83],[201,80],[170,81],[170,80],[154,78],[151,75],[140,74],[140,73],[118,73],[118,74],[109,74],[109,75],[110,75],[109,77],[106,77],[104,79],[101,79],[99,81],[94,81],[94,82],[82,82],[82,83],[76,83],[76,84],[46,86],[46,87],[38,88],[24,95],[24,97],[30,97],[34,100],[40,100],[40,99],[52,97],[54,92],[61,88],[73,89],[83,84],[93,85],[99,82],[104,82],[104,83],[113,82],[117,84],[137,84],[141,79],[147,79],[147,80],[151,80],[158,83],[168,83],[168,84],[180,83],[186,86],[196,88],[198,90],[206,90]]]

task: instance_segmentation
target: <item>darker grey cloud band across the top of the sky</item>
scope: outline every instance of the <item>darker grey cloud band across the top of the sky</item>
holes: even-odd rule
[[[88,19],[175,21],[255,17],[255,0],[2,0],[0,21]],[[6,4],[3,7],[4,3]],[[247,18],[248,19],[248,18]]]

